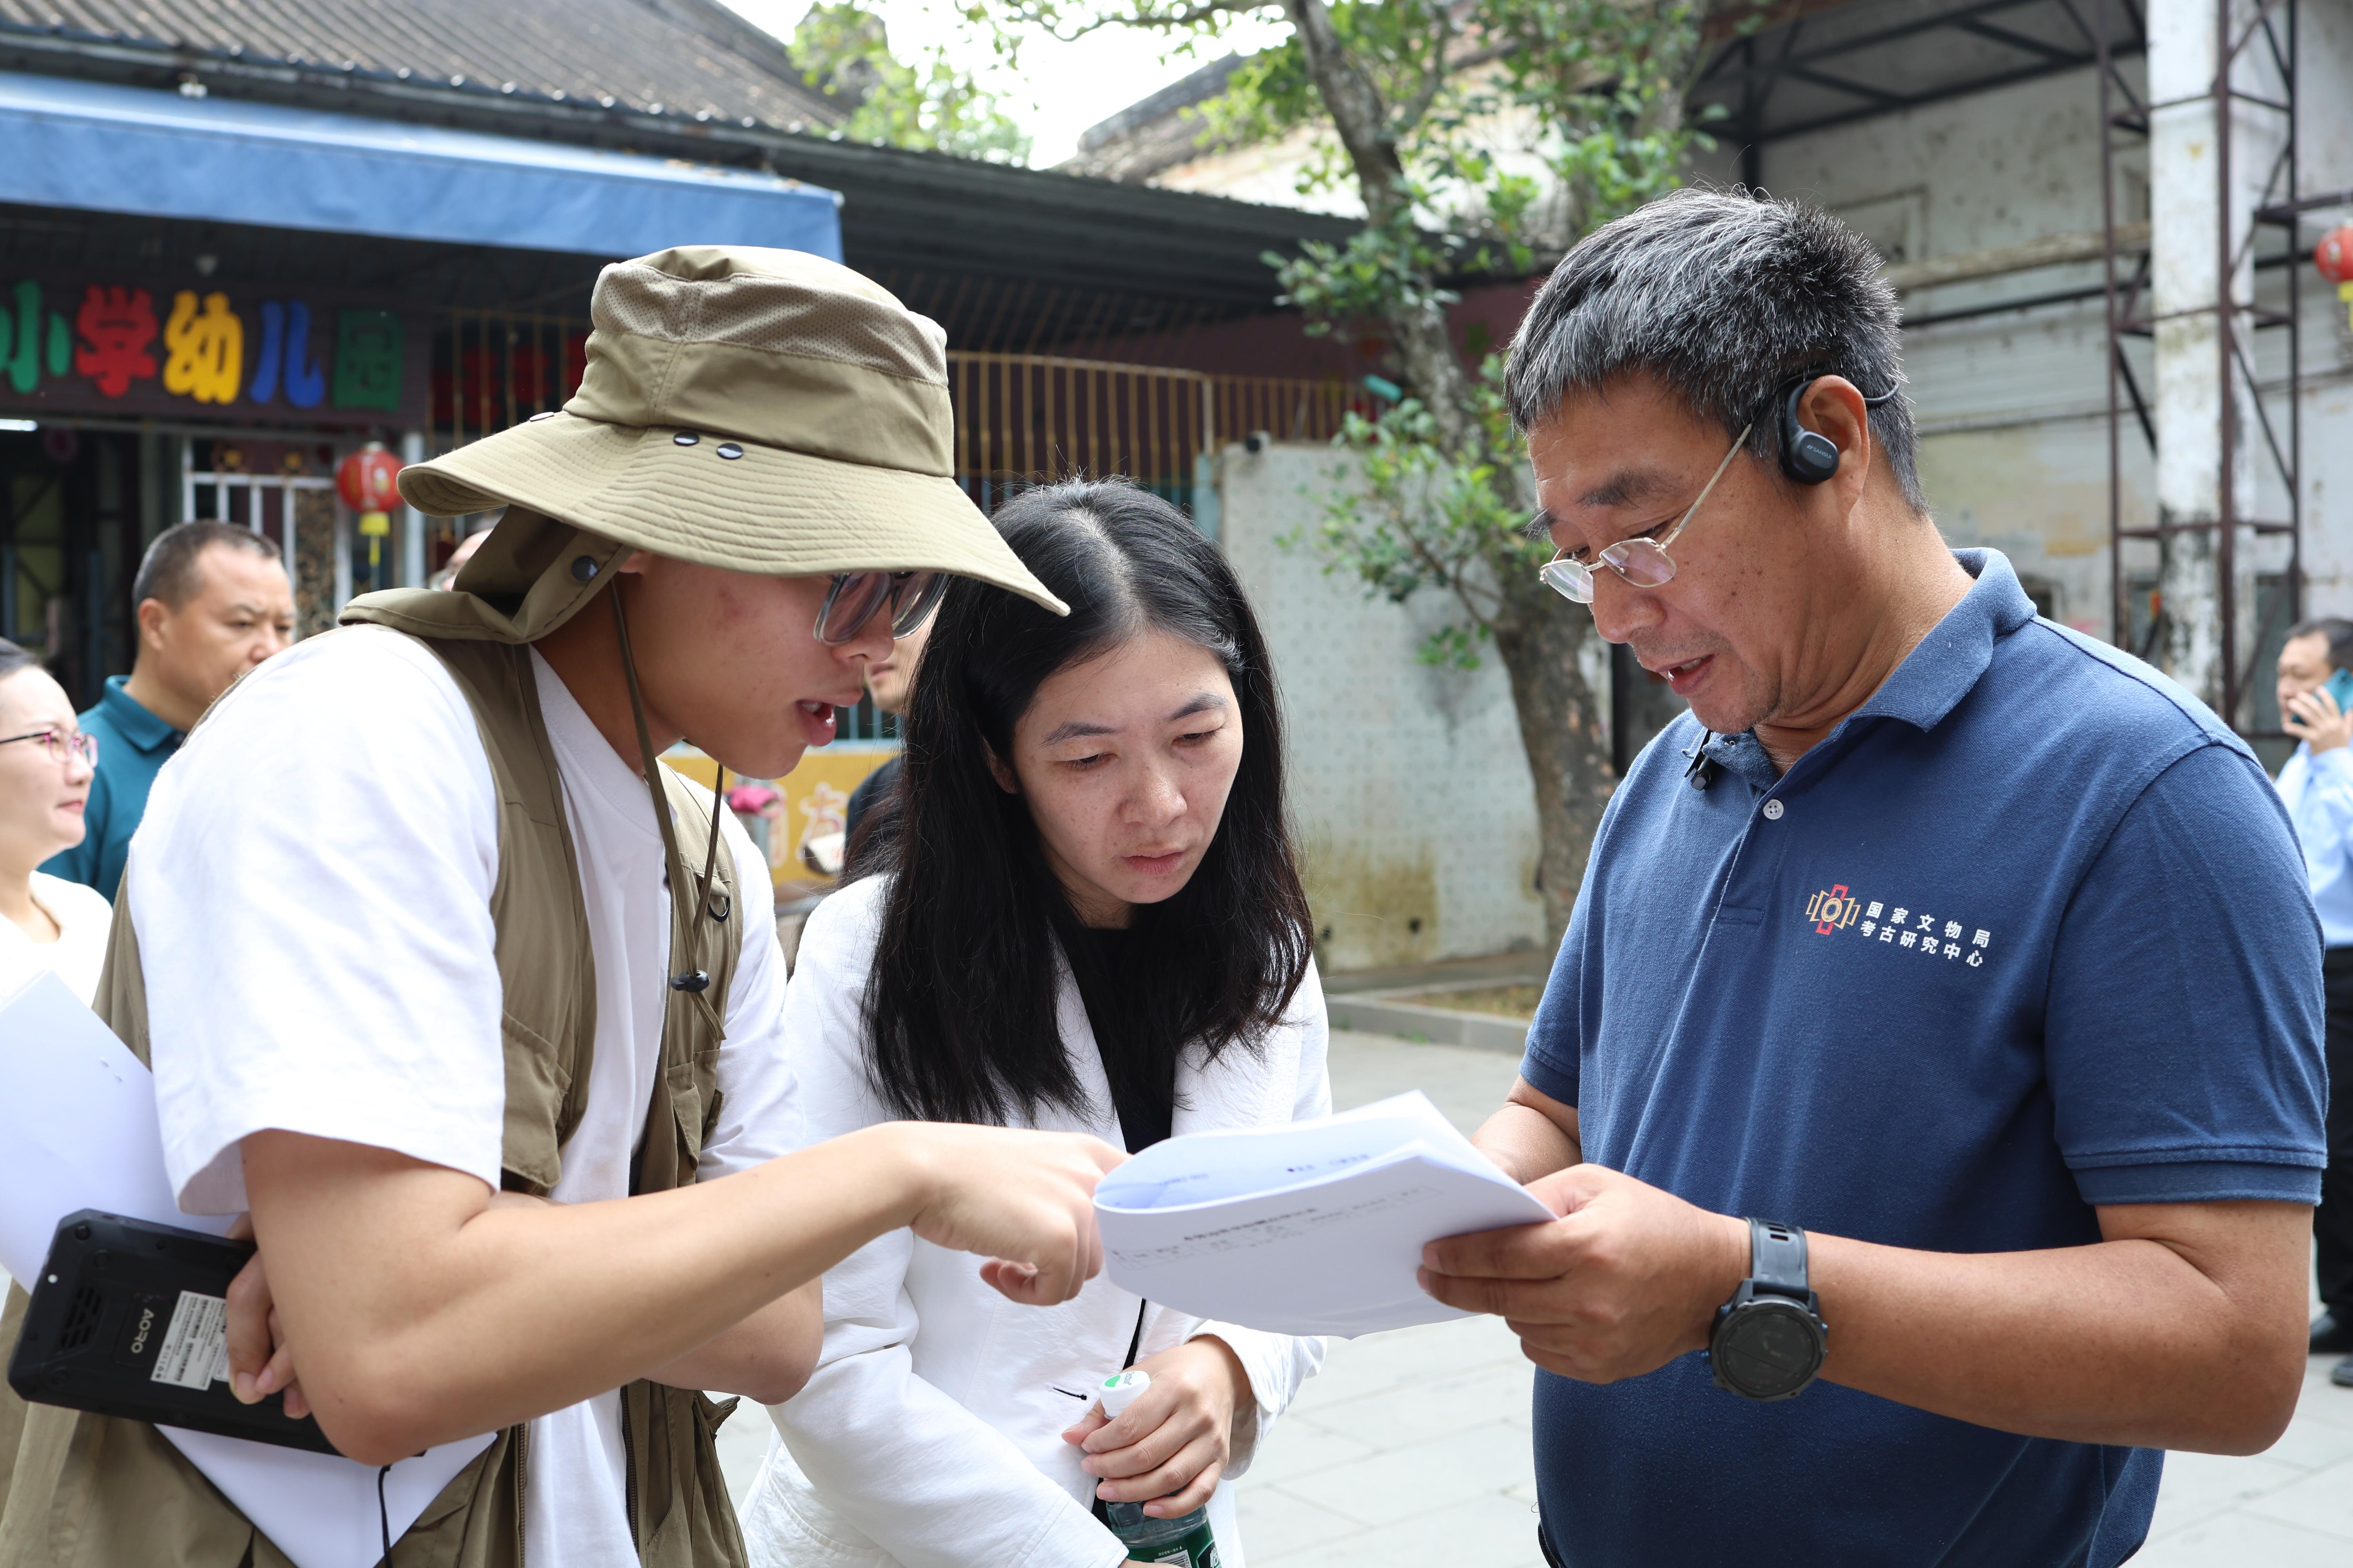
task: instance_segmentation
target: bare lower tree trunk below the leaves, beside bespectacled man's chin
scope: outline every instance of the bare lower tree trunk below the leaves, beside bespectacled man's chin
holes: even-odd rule
[[[1534,599],[1544,595],[1544,602]],[[1617,788],[1609,741],[1577,651],[1593,635],[1593,616],[1548,588],[1537,588],[1520,614],[1494,632],[1497,656],[1511,675],[1520,748],[1537,785],[1537,882],[1551,940],[1569,929],[1577,889],[1586,879],[1593,832]]]

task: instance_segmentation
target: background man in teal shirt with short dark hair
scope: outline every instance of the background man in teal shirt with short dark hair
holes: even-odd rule
[[[132,578],[139,654],[111,675],[82,733],[99,738],[82,842],[49,856],[52,877],[122,886],[132,832],[146,816],[155,773],[212,698],[294,637],[294,590],[278,545],[226,522],[181,522],[155,536]]]

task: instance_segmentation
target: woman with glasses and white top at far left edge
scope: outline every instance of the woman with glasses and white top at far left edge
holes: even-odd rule
[[[14,642],[0,642],[0,992],[52,969],[89,1001],[113,910],[80,882],[33,870],[82,842],[99,741],[66,689]]]

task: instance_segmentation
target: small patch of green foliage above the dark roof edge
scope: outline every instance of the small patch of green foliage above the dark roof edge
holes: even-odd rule
[[[1005,115],[972,71],[953,66],[946,49],[915,63],[901,61],[889,49],[882,19],[856,0],[812,5],[793,28],[793,59],[809,87],[849,110],[840,127],[847,141],[991,162],[1028,160],[1028,132]]]

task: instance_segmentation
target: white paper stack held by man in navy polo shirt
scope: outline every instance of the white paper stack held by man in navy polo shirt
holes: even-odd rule
[[[1111,1281],[1268,1333],[1353,1338],[1468,1316],[1414,1281],[1421,1248],[1553,1211],[1421,1093],[1158,1143],[1094,1190]]]

